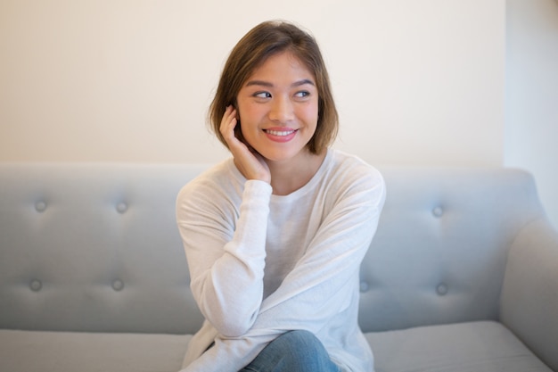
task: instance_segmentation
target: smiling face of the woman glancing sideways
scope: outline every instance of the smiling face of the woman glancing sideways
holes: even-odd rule
[[[297,57],[283,52],[269,57],[242,86],[236,97],[242,136],[267,161],[308,152],[318,120],[315,80]]]

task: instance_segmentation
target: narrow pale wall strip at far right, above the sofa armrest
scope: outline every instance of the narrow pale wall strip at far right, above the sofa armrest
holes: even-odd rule
[[[507,0],[505,165],[528,169],[558,227],[558,2]]]

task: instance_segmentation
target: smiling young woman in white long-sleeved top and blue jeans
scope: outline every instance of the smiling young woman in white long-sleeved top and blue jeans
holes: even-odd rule
[[[381,174],[329,148],[337,111],[316,41],[287,22],[231,52],[209,121],[233,157],[176,204],[206,321],[185,371],[373,370],[358,270],[385,199]]]

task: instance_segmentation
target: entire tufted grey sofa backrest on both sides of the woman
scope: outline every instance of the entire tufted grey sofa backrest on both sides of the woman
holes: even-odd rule
[[[207,166],[0,164],[0,328],[193,333],[179,189]],[[506,253],[543,213],[512,169],[380,168],[365,331],[498,317]]]

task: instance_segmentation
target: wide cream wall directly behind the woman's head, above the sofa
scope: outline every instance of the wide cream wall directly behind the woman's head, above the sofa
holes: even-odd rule
[[[205,112],[260,21],[308,27],[372,163],[501,165],[505,0],[0,1],[0,161],[212,162]]]

